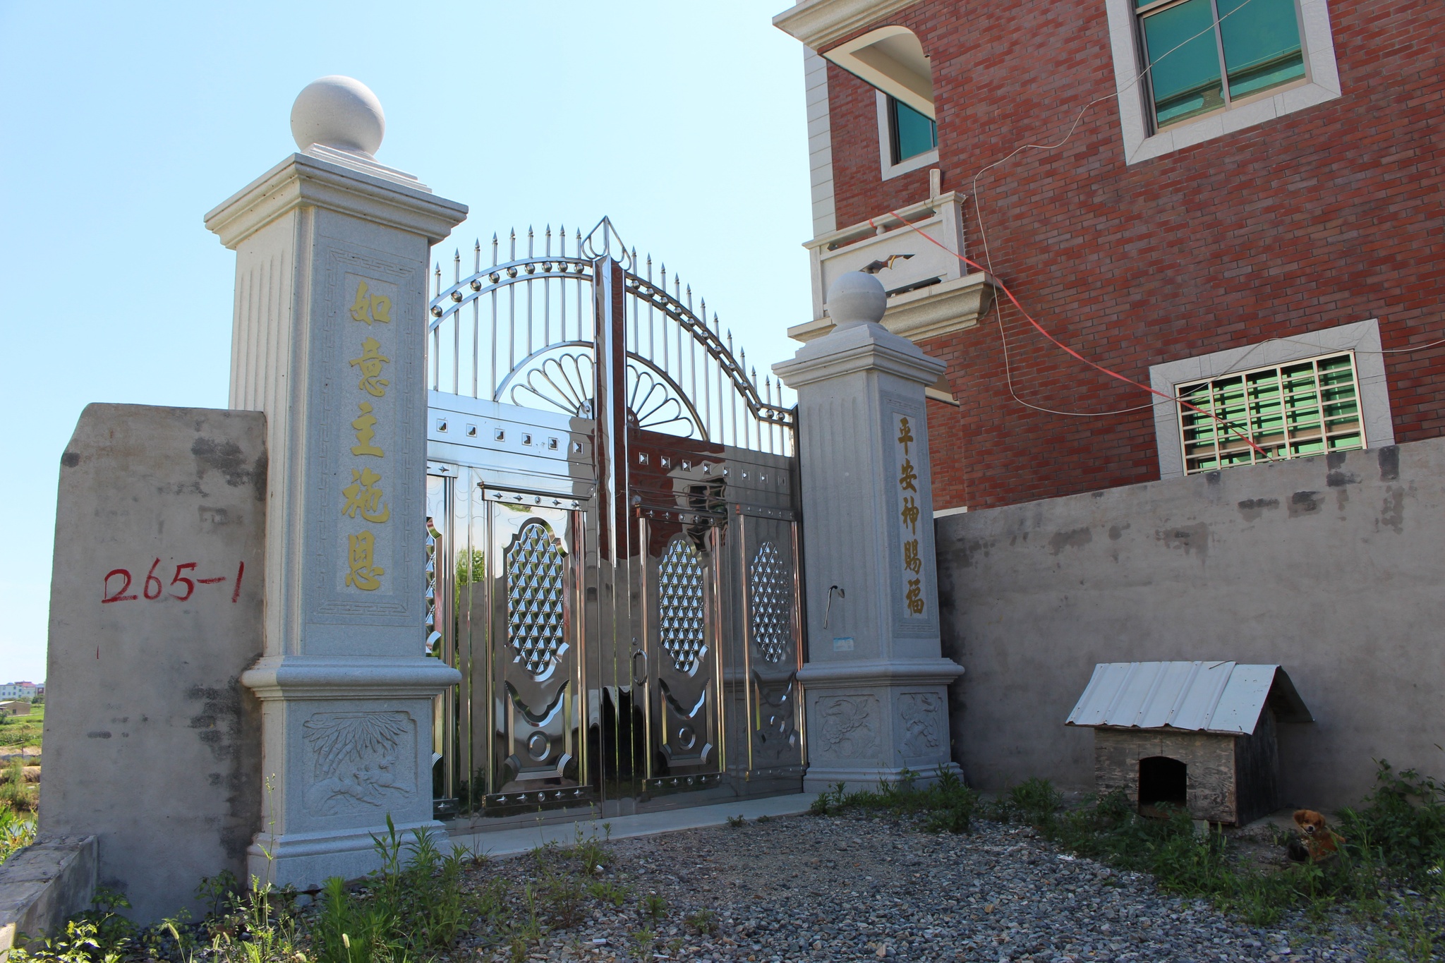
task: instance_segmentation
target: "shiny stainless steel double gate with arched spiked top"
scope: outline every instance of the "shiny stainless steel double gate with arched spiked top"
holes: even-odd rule
[[[431,308],[438,811],[801,790],[795,409],[605,219],[525,244]]]

